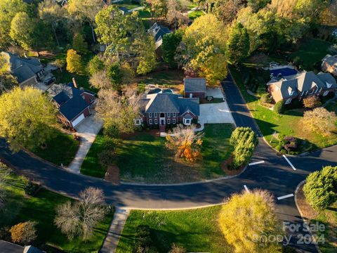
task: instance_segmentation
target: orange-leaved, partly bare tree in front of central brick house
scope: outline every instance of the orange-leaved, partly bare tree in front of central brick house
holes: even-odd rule
[[[201,158],[201,132],[195,131],[196,127],[178,124],[171,133],[166,136],[166,147],[175,150],[176,157],[185,158],[188,162],[195,162]]]

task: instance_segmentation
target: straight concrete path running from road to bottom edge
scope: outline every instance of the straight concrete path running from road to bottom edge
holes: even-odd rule
[[[116,212],[114,212],[114,219],[112,220],[109,231],[107,231],[107,236],[105,237],[103,246],[100,249],[100,253],[116,252],[121,232],[123,231],[126,219],[128,219],[128,214],[130,214],[130,209],[116,208]]]

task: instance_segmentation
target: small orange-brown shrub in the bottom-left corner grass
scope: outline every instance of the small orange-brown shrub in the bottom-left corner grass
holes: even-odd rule
[[[36,225],[37,222],[35,221],[26,221],[12,226],[9,232],[11,233],[13,242],[28,244],[29,242],[35,240],[37,238]]]

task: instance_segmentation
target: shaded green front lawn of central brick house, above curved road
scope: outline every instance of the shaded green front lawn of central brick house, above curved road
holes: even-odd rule
[[[165,147],[165,138],[155,137],[147,131],[123,139],[116,150],[120,179],[147,183],[177,183],[225,176],[220,163],[232,153],[229,143],[232,130],[232,124],[206,125],[201,148],[203,160],[196,164],[175,160],[171,150]],[[82,164],[82,174],[104,177],[106,169],[98,160],[103,138],[100,134],[93,143]]]

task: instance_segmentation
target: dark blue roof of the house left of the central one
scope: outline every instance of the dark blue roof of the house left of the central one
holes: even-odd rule
[[[61,89],[58,89],[59,93],[53,96],[53,100],[60,105],[59,110],[62,115],[64,115],[69,121],[72,121],[74,117],[79,115],[89,106],[81,95],[84,92],[91,92],[84,89],[77,89],[71,83],[58,87],[61,87]],[[93,93],[91,94],[93,95]]]

